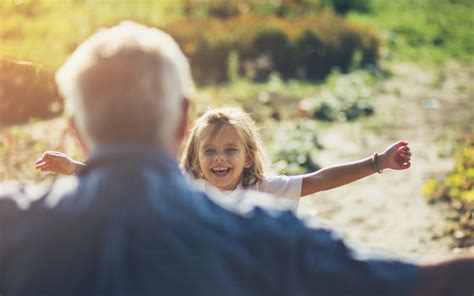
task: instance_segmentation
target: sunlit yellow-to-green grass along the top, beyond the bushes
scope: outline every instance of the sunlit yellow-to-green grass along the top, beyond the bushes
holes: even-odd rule
[[[40,63],[54,71],[97,28],[124,19],[154,26],[183,15],[206,19],[254,14],[298,21],[319,18],[328,8],[347,11],[341,5],[350,7],[349,20],[368,23],[383,33],[389,58],[474,61],[474,4],[469,0],[0,1],[0,57]]]

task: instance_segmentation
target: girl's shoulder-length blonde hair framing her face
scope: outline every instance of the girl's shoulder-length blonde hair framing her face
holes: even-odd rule
[[[245,168],[242,176],[244,188],[255,185],[267,174],[266,156],[262,140],[255,121],[240,108],[210,109],[196,120],[191,134],[184,146],[181,156],[181,167],[188,174],[198,179],[202,177],[199,166],[199,147],[203,131],[212,127],[212,134],[218,134],[224,127],[232,127],[245,145],[245,153],[251,160],[249,168]]]

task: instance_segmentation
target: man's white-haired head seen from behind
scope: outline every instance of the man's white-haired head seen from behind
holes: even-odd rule
[[[133,22],[97,32],[56,74],[91,148],[139,143],[176,150],[194,89],[189,64],[166,33]]]

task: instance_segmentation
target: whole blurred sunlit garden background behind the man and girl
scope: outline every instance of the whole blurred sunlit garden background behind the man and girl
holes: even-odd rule
[[[51,182],[46,150],[85,155],[54,73],[100,27],[135,20],[188,56],[195,115],[240,106],[279,174],[383,151],[406,172],[304,198],[348,239],[417,259],[474,252],[474,2],[470,0],[1,0],[0,181]]]

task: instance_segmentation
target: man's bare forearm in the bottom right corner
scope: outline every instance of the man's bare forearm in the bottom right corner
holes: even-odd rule
[[[474,256],[422,265],[413,295],[473,296]]]

